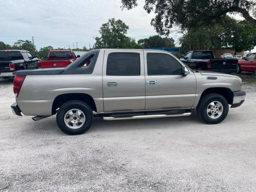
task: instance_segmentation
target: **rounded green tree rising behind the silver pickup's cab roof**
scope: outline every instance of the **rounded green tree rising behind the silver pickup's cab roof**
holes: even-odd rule
[[[126,34],[129,29],[122,20],[109,19],[108,23],[102,24],[99,29],[101,37],[96,37],[96,48],[120,48],[122,42],[126,40]]]

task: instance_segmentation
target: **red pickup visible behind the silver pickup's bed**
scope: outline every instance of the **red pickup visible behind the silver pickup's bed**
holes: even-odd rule
[[[48,58],[38,62],[38,68],[67,67],[78,57],[71,50],[50,50]]]

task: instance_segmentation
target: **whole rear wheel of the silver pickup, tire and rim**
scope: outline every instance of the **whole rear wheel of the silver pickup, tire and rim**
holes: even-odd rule
[[[87,131],[93,123],[93,112],[85,102],[74,100],[61,105],[56,116],[58,127],[65,134],[77,135]]]

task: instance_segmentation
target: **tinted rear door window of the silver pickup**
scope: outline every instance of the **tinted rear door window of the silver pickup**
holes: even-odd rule
[[[107,61],[107,76],[140,76],[140,54],[110,53]]]

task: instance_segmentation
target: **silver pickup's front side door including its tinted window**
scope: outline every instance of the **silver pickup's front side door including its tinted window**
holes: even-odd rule
[[[145,51],[145,109],[191,108],[195,102],[194,73],[182,75],[182,65],[174,56]]]

